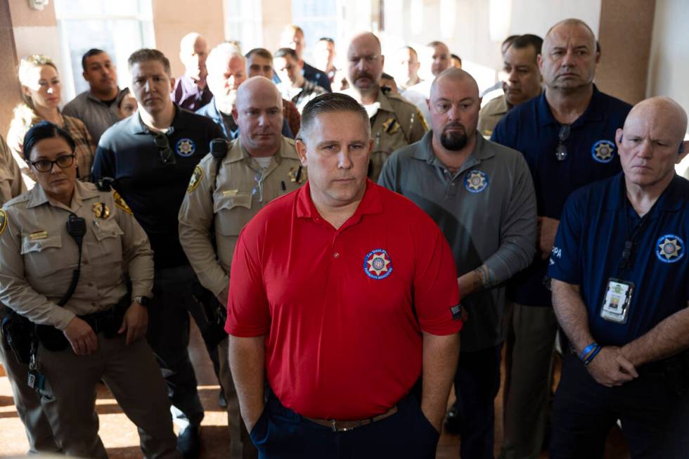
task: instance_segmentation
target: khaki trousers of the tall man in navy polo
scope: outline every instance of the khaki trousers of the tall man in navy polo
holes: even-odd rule
[[[506,314],[505,439],[501,459],[536,459],[546,432],[558,320],[552,307],[513,303]]]

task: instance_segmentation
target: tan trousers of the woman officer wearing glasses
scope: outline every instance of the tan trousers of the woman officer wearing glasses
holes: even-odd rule
[[[124,335],[98,335],[98,349],[77,356],[71,348],[53,352],[39,347],[41,373],[51,399],[41,399],[63,453],[107,458],[98,437],[96,384],[101,379],[127,417],[139,428],[141,451],[149,459],[179,459],[172,430],[167,387],[146,340],[124,344]]]

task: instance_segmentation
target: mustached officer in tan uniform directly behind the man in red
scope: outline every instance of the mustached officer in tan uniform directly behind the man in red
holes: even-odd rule
[[[349,89],[342,91],[366,108],[371,119],[373,150],[368,176],[378,180],[382,164],[398,148],[419,141],[428,127],[418,109],[399,95],[380,89],[385,57],[378,37],[370,32],[356,35],[347,51]]]

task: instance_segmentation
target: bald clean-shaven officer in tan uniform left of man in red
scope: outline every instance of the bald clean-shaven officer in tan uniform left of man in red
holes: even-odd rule
[[[271,200],[299,188],[307,179],[295,143],[281,135],[280,92],[264,77],[240,84],[232,116],[239,136],[226,153],[206,155],[196,166],[179,209],[179,240],[201,284],[225,309],[230,265],[238,235]],[[223,320],[224,323],[224,320]],[[230,457],[255,456],[239,413],[237,392],[227,362],[225,338],[218,347],[225,392]]]

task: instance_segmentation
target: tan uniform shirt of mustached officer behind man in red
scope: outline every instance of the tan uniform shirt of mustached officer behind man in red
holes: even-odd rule
[[[354,98],[358,95],[347,89],[343,91]],[[397,94],[384,94],[378,90],[378,112],[373,115],[371,138],[373,138],[373,152],[368,176],[378,181],[382,165],[394,150],[418,142],[428,130],[428,125],[416,105],[410,103]]]

